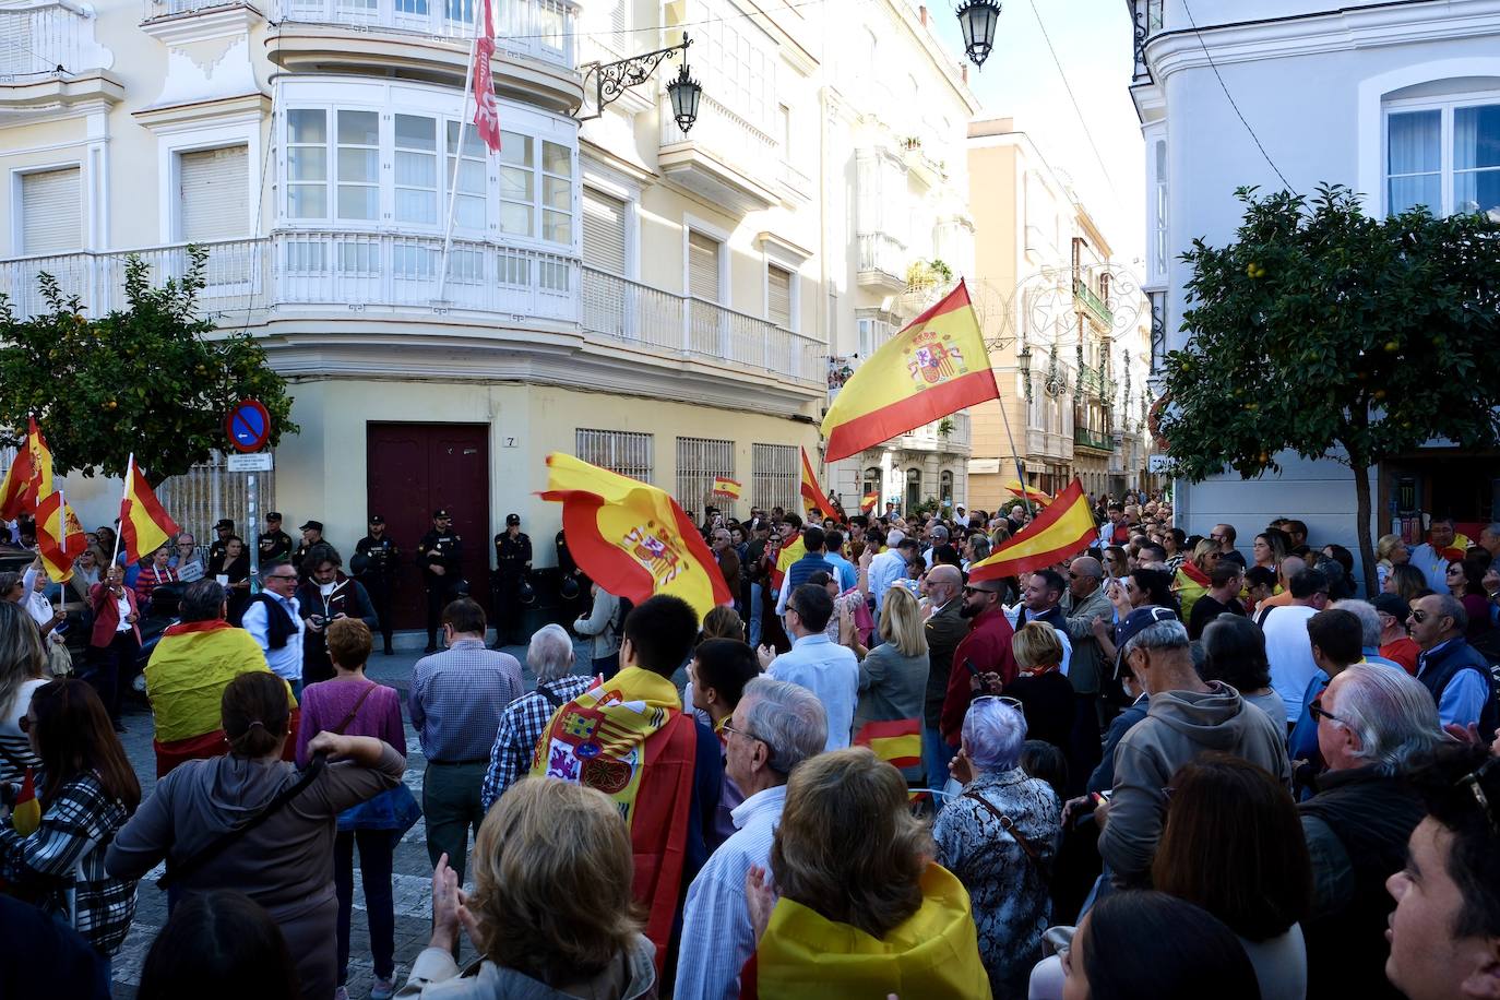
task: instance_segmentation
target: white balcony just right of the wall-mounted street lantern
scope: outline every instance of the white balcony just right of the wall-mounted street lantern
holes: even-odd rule
[[[664,88],[660,118],[657,166],[669,181],[738,216],[782,204],[777,186],[786,174],[777,141],[708,90],[690,133],[676,127]]]

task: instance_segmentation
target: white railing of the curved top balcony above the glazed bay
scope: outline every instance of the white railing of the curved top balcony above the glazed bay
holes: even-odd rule
[[[204,0],[165,0],[202,6]],[[453,39],[468,46],[474,37],[477,0],[278,0],[279,19],[388,28]],[[504,0],[492,4],[495,49],[574,66],[578,10],[567,0]]]

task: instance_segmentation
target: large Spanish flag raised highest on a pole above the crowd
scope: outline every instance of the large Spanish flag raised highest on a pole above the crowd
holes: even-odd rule
[[[963,282],[870,355],[824,417],[837,462],[964,406],[999,399],[980,321]]]

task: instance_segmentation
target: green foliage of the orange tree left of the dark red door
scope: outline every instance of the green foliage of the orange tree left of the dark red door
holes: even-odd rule
[[[0,427],[36,415],[58,474],[118,475],[134,451],[152,483],[186,472],[226,447],[224,421],[242,399],[272,414],[272,444],[297,433],[285,381],[248,333],[198,315],[207,252],[188,247],[182,279],[153,288],[129,258],[126,309],[87,319],[51,274],[39,279],[48,310],[16,319],[0,294]],[[16,435],[0,432],[15,444]]]

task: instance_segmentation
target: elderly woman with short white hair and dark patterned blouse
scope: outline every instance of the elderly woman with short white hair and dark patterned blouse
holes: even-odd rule
[[[969,891],[980,957],[996,997],[1026,996],[1041,936],[1052,919],[1048,889],[1062,804],[1022,771],[1026,715],[1008,697],[978,697],[963,718],[950,771],[963,793],[933,823],[938,864]]]

